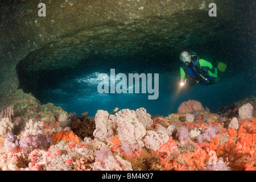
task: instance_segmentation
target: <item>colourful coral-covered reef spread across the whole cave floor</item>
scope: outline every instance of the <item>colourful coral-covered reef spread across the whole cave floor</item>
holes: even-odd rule
[[[0,169],[255,171],[254,108],[253,101],[218,115],[189,100],[166,118],[143,107],[98,110],[95,118],[61,111],[56,122],[5,117]]]

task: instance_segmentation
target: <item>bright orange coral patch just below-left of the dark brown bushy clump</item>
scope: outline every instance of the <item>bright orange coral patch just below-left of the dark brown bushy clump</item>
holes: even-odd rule
[[[73,133],[73,131],[63,131],[61,130],[60,132],[53,133],[53,142],[57,142],[60,140],[64,140],[65,142],[77,142],[79,143],[80,139]]]

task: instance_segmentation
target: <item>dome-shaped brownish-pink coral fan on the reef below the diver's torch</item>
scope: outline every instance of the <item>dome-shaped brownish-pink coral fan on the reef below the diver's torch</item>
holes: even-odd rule
[[[188,100],[187,102],[182,102],[177,109],[178,114],[192,113],[195,110],[204,111],[204,107],[201,102]]]

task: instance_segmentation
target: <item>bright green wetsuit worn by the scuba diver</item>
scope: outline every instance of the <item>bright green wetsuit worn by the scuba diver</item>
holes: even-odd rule
[[[192,61],[192,60],[191,60]],[[194,61],[192,61],[192,63],[193,63]],[[207,77],[207,79],[208,79],[208,83],[210,82],[209,80],[215,80],[218,76],[217,76],[217,68],[214,68],[213,67],[213,65],[209,62],[209,61],[206,61],[206,60],[204,60],[204,59],[199,59],[198,60],[198,62],[199,62],[199,67],[200,67],[200,69],[201,70],[204,70],[205,71],[205,76]],[[189,72],[189,70],[193,70],[193,68],[196,68],[197,70],[198,70],[198,68],[197,67],[195,67],[193,64],[191,64],[191,68],[189,68],[188,69],[188,67],[185,67],[184,65],[182,66],[182,67],[180,67],[180,78],[181,79],[183,79],[183,78],[185,78],[186,77],[186,73],[185,73],[185,71],[184,71],[184,69],[187,69],[187,73],[188,73],[188,75],[187,76],[189,76],[190,78],[192,78],[193,79],[193,77],[195,77],[195,81],[196,82],[199,82],[200,84],[202,84],[202,85],[207,85],[207,84],[205,84],[205,83],[203,83],[203,82],[200,82],[200,81],[198,81],[198,80],[196,80],[196,76],[197,75],[195,75],[195,74],[193,74],[191,71]],[[214,69],[214,72],[213,71],[210,71],[210,70],[212,70],[212,69]],[[191,73],[191,74],[190,74]],[[193,75],[192,75],[193,74]],[[217,81],[217,80],[216,80]]]

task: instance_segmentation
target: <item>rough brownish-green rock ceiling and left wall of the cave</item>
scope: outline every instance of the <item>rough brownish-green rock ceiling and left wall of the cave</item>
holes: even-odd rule
[[[42,73],[76,68],[94,57],[166,59],[188,45],[254,37],[253,1],[48,0],[46,16],[39,17],[40,2],[0,3],[0,109],[28,106],[24,98],[39,103],[26,93],[36,92]],[[212,2],[217,17],[208,15]],[[19,80],[26,93],[17,90]]]

